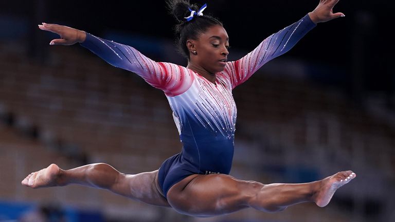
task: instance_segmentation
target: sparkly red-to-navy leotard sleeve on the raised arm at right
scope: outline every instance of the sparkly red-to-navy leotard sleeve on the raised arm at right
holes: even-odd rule
[[[245,82],[262,65],[289,51],[304,35],[316,26],[307,14],[298,22],[272,34],[243,58],[228,62],[224,74],[232,89]]]

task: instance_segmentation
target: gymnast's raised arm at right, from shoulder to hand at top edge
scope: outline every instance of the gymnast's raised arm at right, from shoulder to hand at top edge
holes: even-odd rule
[[[301,18],[301,20],[272,34],[240,60],[228,62],[225,67],[225,73],[230,78],[232,88],[245,82],[268,61],[289,51],[317,23],[327,22],[333,18],[344,16],[341,12],[332,12],[333,7],[338,1],[320,0],[318,6]]]

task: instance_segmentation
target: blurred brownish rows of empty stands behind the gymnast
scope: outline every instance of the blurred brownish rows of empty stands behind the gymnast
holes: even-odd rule
[[[78,210],[96,212],[93,217],[102,221],[203,221],[103,190],[23,187],[20,182],[27,174],[50,163],[69,169],[106,162],[135,174],[158,169],[182,147],[164,94],[134,73],[112,67],[79,46],[51,47],[45,61],[29,58],[24,50],[11,41],[0,44],[4,206],[57,203],[76,209],[66,214],[67,221],[88,221],[75,216]],[[204,221],[395,218],[395,200],[388,198],[395,185],[395,124],[390,117],[356,106],[334,88],[276,76],[265,68],[236,88],[234,97],[238,121],[231,175],[294,183],[352,169],[357,179],[340,189],[326,208],[302,204],[277,214],[243,210]],[[0,202],[0,220],[27,213],[9,216],[2,206]]]

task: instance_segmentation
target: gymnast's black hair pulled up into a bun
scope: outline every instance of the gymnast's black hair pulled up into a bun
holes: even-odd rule
[[[210,15],[207,15],[204,11],[202,16],[193,16],[191,21],[187,21],[185,17],[188,17],[191,12],[188,7],[193,11],[199,11],[199,7],[189,3],[189,0],[168,0],[167,5],[171,14],[174,15],[178,24],[175,25],[174,31],[176,34],[176,44],[178,51],[184,55],[189,61],[189,50],[187,48],[187,40],[197,40],[199,35],[207,31],[207,29],[213,25],[223,26],[222,23]]]

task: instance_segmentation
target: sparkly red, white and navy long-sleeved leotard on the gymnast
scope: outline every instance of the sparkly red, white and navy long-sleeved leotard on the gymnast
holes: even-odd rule
[[[165,197],[177,182],[192,174],[229,174],[234,154],[237,109],[232,89],[263,64],[290,50],[315,24],[308,15],[272,34],[240,60],[227,62],[216,73],[216,84],[199,73],[172,63],[155,62],[133,47],[86,34],[82,46],[106,62],[137,73],[164,91],[183,149],[159,168]]]

